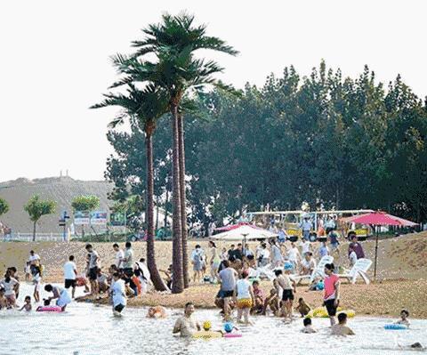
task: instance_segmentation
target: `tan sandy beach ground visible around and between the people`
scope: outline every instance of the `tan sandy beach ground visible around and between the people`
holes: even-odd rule
[[[207,240],[190,241],[190,250],[200,244],[207,246]],[[114,261],[114,251],[111,243],[94,243],[95,249],[101,255],[103,267]],[[219,247],[230,244],[219,244]],[[367,257],[374,259],[375,241],[363,242]],[[254,245],[251,247],[254,248]],[[7,266],[16,266],[20,275],[29,250],[34,249],[44,263],[44,282],[62,282],[62,265],[68,255],[77,258],[78,270],[85,267],[85,243],[1,243],[0,272]],[[145,257],[144,242],[133,243],[137,258]],[[347,243],[342,243],[342,264],[346,259]],[[172,242],[156,242],[157,266],[167,268],[171,261]],[[373,277],[373,269],[370,277]],[[427,290],[427,233],[417,233],[399,238],[381,240],[379,244],[378,277],[370,285],[358,283],[350,285],[343,281],[342,307],[352,309],[359,315],[393,316],[399,314],[401,308],[411,311],[411,317],[426,319],[427,303],[421,302]],[[268,292],[271,283],[262,282],[262,288]],[[310,305],[317,307],[321,304],[320,292],[305,292],[307,286],[297,289],[296,297],[302,296]],[[130,307],[161,304],[166,307],[181,308],[189,300],[200,308],[214,308],[214,296],[218,291],[216,285],[192,285],[182,294],[147,294],[129,300]],[[106,303],[101,300],[100,303]]]

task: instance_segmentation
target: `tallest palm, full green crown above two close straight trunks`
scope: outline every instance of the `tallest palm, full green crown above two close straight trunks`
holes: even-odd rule
[[[231,55],[238,54],[222,39],[206,36],[205,25],[196,27],[193,22],[194,16],[185,12],[177,16],[166,13],[163,15],[161,23],[149,25],[148,28],[142,30],[146,35],[145,39],[133,42],[133,46],[137,48],[134,58],[141,58],[149,53],[157,55],[157,73],[151,79],[157,80],[158,85],[165,87],[170,97],[170,111],[173,117],[173,247],[176,247],[177,252],[182,251],[182,267],[180,265],[174,267],[173,275],[180,278],[182,269],[184,287],[189,285],[189,258],[187,215],[185,213],[185,149],[183,120],[180,112],[181,101],[186,92],[200,90],[205,85],[214,85],[230,90],[229,86],[222,85],[214,78],[214,74],[222,72],[223,69],[214,61],[195,59],[195,51],[208,49]],[[138,80],[136,77],[133,79]],[[147,80],[147,72],[140,77],[141,79],[142,81]],[[181,239],[181,242],[178,239]],[[176,262],[179,262],[178,259],[177,255]],[[181,283],[181,279],[178,283]],[[177,287],[181,289],[181,286]],[[178,290],[175,289],[175,291]]]

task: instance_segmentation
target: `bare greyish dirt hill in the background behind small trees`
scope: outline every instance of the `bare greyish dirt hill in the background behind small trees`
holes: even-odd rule
[[[9,203],[9,212],[2,215],[1,222],[12,228],[13,232],[32,231],[32,223],[24,211],[28,199],[38,194],[41,198],[56,201],[56,213],[43,216],[37,226],[37,232],[59,233],[58,220],[62,211],[71,214],[71,200],[77,195],[95,195],[100,198],[100,210],[107,211],[111,205],[107,194],[113,185],[109,182],[84,182],[68,176],[28,180],[20,178],[11,182],[0,182],[0,198]]]

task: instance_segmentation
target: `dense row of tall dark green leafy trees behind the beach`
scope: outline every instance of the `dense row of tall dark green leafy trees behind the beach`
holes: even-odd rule
[[[367,67],[353,79],[321,62],[308,77],[289,67],[262,87],[198,93],[196,101],[184,120],[188,222],[221,225],[245,210],[304,202],[426,221],[427,105],[401,77],[384,85]],[[168,119],[159,119],[153,139],[155,195],[166,210]],[[143,134],[110,130],[108,139],[116,151],[106,170],[113,198],[143,193]]]

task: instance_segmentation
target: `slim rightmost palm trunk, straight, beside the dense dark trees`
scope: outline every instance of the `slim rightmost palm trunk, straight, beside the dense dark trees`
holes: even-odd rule
[[[182,273],[184,288],[189,286],[189,252],[187,247],[187,209],[185,206],[185,146],[184,146],[184,120],[178,113],[178,134],[180,149],[180,194],[181,194],[181,239],[182,239]]]

